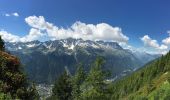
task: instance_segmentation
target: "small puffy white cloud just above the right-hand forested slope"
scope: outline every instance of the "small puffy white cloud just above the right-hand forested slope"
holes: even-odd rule
[[[168,48],[168,46],[164,44],[159,45],[157,40],[151,39],[148,35],[143,36],[141,40],[143,41],[146,47],[151,47],[159,50],[165,50]]]

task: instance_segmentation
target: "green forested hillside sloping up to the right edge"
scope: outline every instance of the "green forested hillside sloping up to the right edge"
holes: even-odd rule
[[[169,100],[170,52],[110,86],[113,100]]]

